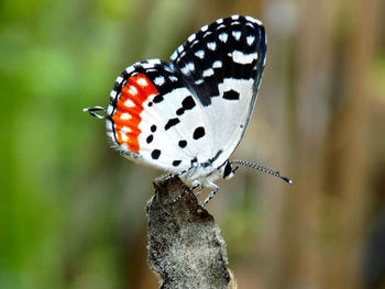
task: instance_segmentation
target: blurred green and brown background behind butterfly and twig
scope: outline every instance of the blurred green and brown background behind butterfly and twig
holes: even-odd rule
[[[239,288],[385,288],[385,2],[2,0],[0,288],[157,288],[146,265],[150,167],[108,147],[107,105],[134,62],[167,60],[204,24],[261,19],[268,55],[208,205]]]

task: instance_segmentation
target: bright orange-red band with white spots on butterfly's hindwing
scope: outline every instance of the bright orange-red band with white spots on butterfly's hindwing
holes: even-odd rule
[[[127,144],[131,152],[139,153],[139,124],[142,121],[143,102],[150,95],[158,95],[156,87],[144,74],[131,76],[119,96],[117,110],[112,116],[119,144]],[[123,115],[123,113],[128,113]]]

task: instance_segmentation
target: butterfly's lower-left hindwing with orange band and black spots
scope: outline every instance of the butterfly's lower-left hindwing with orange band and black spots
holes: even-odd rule
[[[201,104],[158,59],[134,64],[117,78],[107,113],[118,151],[167,171],[189,168],[195,152],[210,145]]]

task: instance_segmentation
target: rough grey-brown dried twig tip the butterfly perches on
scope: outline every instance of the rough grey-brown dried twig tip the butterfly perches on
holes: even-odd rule
[[[146,208],[148,263],[161,288],[237,288],[220,230],[194,192],[177,177],[155,179],[154,188]]]

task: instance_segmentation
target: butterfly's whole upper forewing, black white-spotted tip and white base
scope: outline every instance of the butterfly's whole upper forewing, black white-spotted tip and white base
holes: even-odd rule
[[[172,55],[182,80],[210,115],[215,151],[221,165],[242,138],[253,111],[266,58],[262,23],[233,15],[206,25]]]

